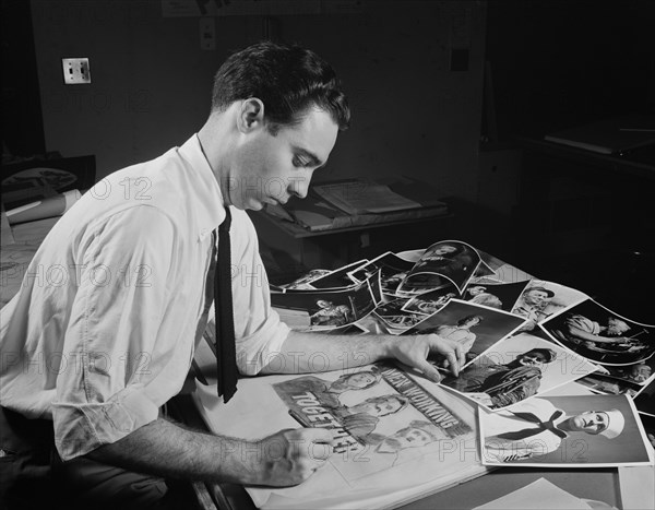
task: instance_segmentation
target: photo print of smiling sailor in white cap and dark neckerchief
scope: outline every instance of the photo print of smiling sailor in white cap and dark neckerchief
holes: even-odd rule
[[[480,410],[488,465],[602,467],[653,463],[653,449],[627,395],[535,396]]]

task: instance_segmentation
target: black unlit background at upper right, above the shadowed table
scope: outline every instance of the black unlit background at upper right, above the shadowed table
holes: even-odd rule
[[[655,112],[655,2],[490,0],[500,138]]]

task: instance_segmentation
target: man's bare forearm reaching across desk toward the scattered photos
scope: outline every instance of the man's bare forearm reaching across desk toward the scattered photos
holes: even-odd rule
[[[331,335],[291,331],[262,373],[307,373],[360,367],[391,356],[394,335]]]

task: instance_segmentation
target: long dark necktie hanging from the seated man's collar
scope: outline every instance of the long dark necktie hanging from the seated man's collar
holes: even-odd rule
[[[229,226],[231,215],[225,207],[225,221],[218,226],[218,257],[214,278],[214,319],[216,321],[216,363],[218,396],[227,402],[237,391],[237,355],[235,349],[235,319],[231,298],[231,261]]]

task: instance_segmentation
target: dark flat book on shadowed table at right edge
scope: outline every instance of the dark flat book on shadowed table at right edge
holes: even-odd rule
[[[557,131],[544,140],[598,154],[621,154],[655,143],[655,117],[618,117]]]

